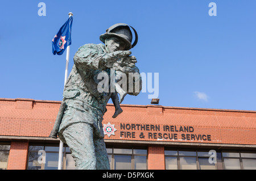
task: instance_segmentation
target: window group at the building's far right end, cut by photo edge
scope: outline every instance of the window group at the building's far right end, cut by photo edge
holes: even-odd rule
[[[256,153],[222,151],[224,169],[256,170]]]

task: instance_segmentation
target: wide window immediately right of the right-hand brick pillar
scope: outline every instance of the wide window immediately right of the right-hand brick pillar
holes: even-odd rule
[[[207,151],[165,150],[166,170],[215,170]]]

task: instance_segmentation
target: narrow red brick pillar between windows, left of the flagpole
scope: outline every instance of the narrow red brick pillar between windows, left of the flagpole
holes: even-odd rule
[[[25,170],[27,166],[28,141],[12,141],[7,170]]]

